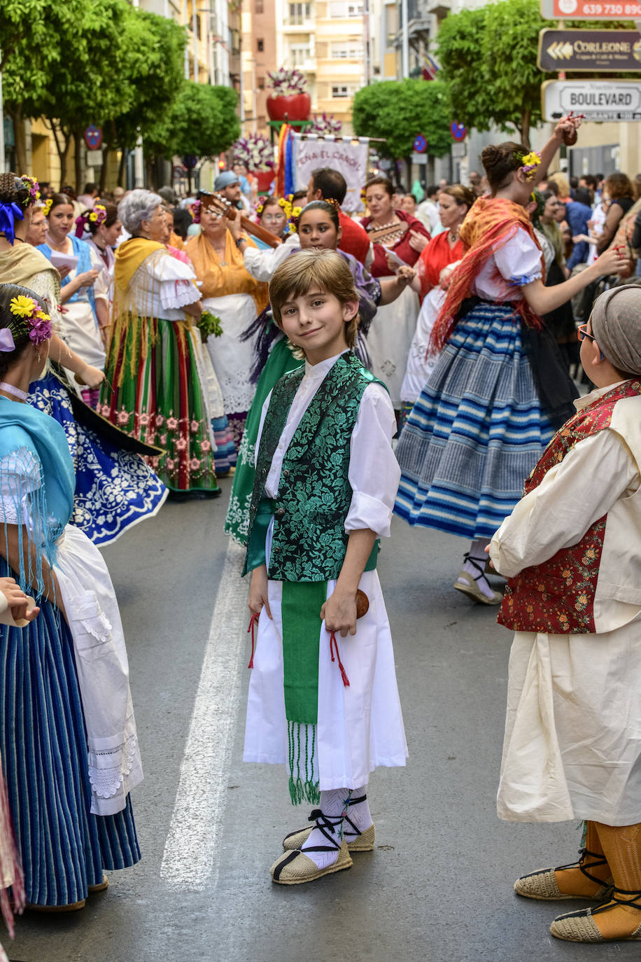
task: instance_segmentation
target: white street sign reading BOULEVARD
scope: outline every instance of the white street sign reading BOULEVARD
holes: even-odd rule
[[[641,120],[639,80],[548,80],[541,85],[544,120],[574,111],[586,120]]]

